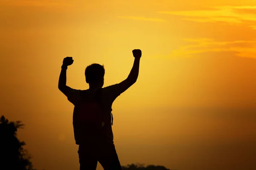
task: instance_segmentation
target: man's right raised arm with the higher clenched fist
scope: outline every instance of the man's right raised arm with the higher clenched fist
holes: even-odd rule
[[[140,57],[141,57],[141,50],[135,49],[132,51],[134,56],[134,64],[131,68],[131,72],[128,77],[119,83],[119,90],[120,94],[126,91],[131,85],[133,85],[139,76],[139,68],[140,68]]]

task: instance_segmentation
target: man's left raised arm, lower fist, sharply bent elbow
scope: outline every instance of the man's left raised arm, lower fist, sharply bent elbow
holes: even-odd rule
[[[72,57],[66,57],[63,59],[63,63],[61,66],[61,74],[58,81],[58,89],[67,96],[67,93],[69,93],[72,88],[68,87],[66,85],[67,83],[67,66],[72,65],[74,62]]]

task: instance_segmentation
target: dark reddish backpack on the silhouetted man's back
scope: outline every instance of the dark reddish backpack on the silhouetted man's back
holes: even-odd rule
[[[112,110],[112,109],[111,109]],[[111,113],[113,125],[113,115]],[[101,140],[105,125],[105,109],[102,102],[102,88],[90,94],[80,91],[80,100],[73,112],[73,130],[76,144]]]

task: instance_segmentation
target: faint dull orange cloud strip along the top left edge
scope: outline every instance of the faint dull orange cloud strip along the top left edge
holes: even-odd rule
[[[36,7],[64,7],[67,3],[57,3],[52,0],[3,0],[0,6],[36,6]]]

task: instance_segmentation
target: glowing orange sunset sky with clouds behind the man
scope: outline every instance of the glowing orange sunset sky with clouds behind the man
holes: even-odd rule
[[[255,0],[1,0],[0,23],[0,111],[26,125],[38,170],[79,168],[63,58],[67,85],[86,89],[92,62],[105,86],[125,79],[134,48],[139,78],[113,104],[122,165],[256,169]]]

